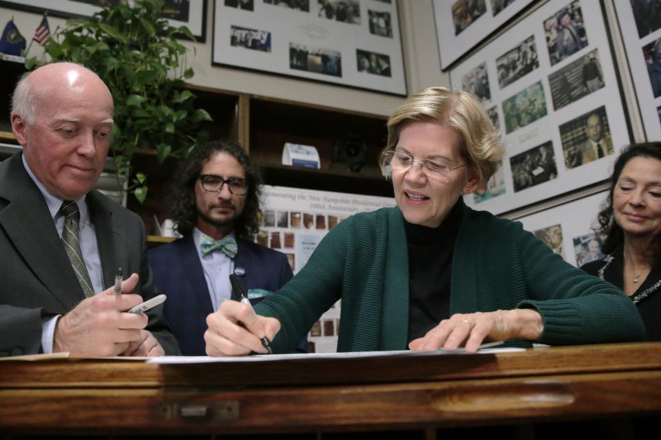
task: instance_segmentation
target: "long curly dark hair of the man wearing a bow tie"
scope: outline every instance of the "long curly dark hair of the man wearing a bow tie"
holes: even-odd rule
[[[207,162],[214,153],[227,153],[235,157],[243,166],[246,175],[248,193],[243,212],[236,219],[234,234],[238,238],[249,239],[260,227],[260,195],[262,194],[262,176],[239,144],[224,141],[211,141],[193,148],[188,157],[182,160],[169,190],[168,217],[174,221],[174,228],[182,236],[188,236],[197,223],[197,210],[193,188]]]

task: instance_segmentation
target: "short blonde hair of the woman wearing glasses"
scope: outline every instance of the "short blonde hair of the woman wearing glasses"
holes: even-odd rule
[[[412,122],[448,124],[459,137],[461,156],[472,164],[483,186],[496,172],[505,153],[501,133],[494,128],[478,98],[467,91],[429,87],[409,96],[388,118],[388,141],[384,151],[394,150],[399,133]],[[379,165],[386,174],[381,156]]]

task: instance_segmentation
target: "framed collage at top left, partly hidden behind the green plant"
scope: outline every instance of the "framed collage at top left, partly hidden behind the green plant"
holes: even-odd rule
[[[54,17],[92,17],[95,12],[108,6],[116,6],[123,0],[0,0],[0,6],[43,14],[48,11]],[[197,41],[206,41],[207,0],[164,0],[162,17],[173,28],[186,26]],[[26,36],[27,38],[27,36]]]

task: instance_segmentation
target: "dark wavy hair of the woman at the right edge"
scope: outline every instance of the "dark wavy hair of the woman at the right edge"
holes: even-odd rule
[[[613,166],[613,175],[610,178],[608,198],[606,199],[604,208],[599,212],[599,227],[596,230],[602,240],[602,252],[605,254],[610,254],[625,241],[625,234],[613,217],[613,190],[615,190],[615,186],[618,184],[622,169],[634,157],[652,157],[661,161],[661,142],[631,144],[622,149],[620,157],[616,160]],[[656,243],[657,249],[653,250],[653,254],[655,255],[654,264],[658,264],[661,259],[658,246],[659,244]]]

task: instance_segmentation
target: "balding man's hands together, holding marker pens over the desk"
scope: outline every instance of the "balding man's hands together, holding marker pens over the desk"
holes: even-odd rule
[[[121,283],[121,295],[110,287],[85,298],[57,321],[53,351],[68,351],[74,358],[116,355],[162,355],[162,348],[147,327],[145,314],[124,313],[143,302],[132,294],[138,275]],[[156,345],[154,345],[154,342]]]

